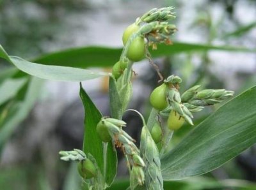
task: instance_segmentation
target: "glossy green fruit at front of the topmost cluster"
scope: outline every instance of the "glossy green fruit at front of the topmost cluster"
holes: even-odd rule
[[[136,37],[132,40],[127,50],[127,58],[131,61],[141,61],[145,57],[145,42],[144,38]]]

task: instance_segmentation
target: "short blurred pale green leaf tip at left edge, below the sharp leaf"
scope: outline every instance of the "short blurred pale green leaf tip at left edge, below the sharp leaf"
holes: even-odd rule
[[[17,78],[4,80],[0,85],[0,105],[9,99],[12,99],[20,88],[28,81],[28,78]]]

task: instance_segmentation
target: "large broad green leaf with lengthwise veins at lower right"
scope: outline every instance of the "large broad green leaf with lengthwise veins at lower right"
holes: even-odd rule
[[[228,101],[161,158],[164,180],[210,172],[256,142],[256,86]]]

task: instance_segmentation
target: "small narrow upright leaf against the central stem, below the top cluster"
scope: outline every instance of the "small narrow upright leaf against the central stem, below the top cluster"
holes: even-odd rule
[[[115,78],[109,77],[109,105],[111,117],[122,119],[122,103],[116,89]]]

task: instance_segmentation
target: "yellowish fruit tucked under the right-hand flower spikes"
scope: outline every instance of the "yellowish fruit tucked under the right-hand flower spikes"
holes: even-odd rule
[[[184,124],[184,117],[180,116],[179,113],[172,110],[167,120],[167,126],[171,130],[177,130]]]

